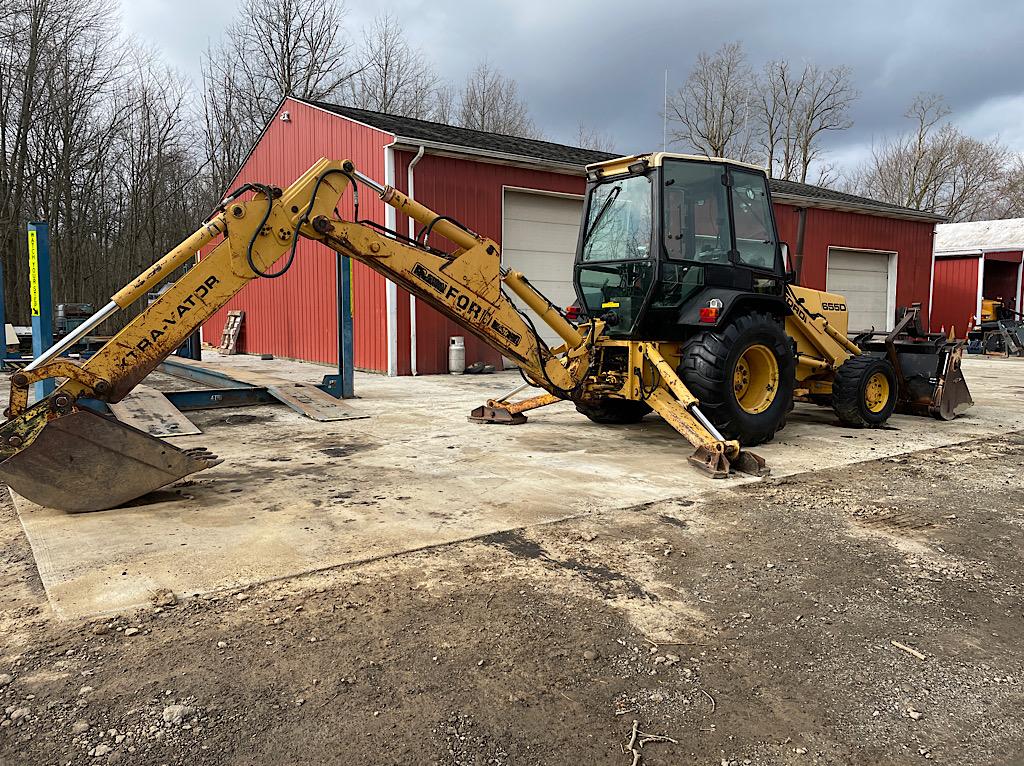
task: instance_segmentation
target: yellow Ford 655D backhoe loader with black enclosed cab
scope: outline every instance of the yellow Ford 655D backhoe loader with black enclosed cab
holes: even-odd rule
[[[591,166],[588,179],[575,318],[504,268],[495,242],[350,162],[321,160],[286,189],[243,186],[75,333],[12,376],[0,477],[42,505],[87,511],[214,465],[209,453],[178,450],[97,414],[87,400],[123,398],[246,284],[282,258],[287,267],[300,237],[406,288],[543,389],[523,401],[487,402],[474,412],[478,420],[521,422],[523,412],[565,399],[601,423],[630,423],[654,411],[693,444],[693,464],[726,476],[765,472],[764,460],[744,448],[769,440],[795,398],[828,403],[853,426],[889,418],[906,389],[902,351],[862,352],[847,337],[842,296],[792,284],[763,170],[653,154]],[[421,236],[339,218],[335,209],[348,186],[379,195],[421,223]],[[431,233],[455,249],[431,246]],[[215,242],[91,358],[77,365],[60,355]],[[562,343],[549,347],[538,322]],[[896,348],[888,340],[887,348]],[[951,417],[971,403],[958,352],[923,342],[935,372],[925,374],[932,391],[926,398]],[[62,382],[30,406],[30,386],[48,378]]]

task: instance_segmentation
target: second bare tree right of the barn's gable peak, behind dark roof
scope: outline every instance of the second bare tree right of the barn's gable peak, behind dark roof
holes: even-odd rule
[[[466,78],[459,97],[459,124],[488,133],[540,138],[541,131],[519,95],[515,80],[505,76],[486,59]]]

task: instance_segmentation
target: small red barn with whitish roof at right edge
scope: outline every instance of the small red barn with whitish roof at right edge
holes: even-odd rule
[[[985,298],[1020,311],[1022,273],[1024,218],[937,226],[932,328],[963,337]]]

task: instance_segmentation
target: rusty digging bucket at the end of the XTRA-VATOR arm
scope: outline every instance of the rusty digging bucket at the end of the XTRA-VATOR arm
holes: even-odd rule
[[[0,463],[0,479],[33,503],[61,511],[115,508],[221,461],[182,451],[88,410],[50,420]]]

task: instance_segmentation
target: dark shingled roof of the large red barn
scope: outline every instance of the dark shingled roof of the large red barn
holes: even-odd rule
[[[302,99],[296,99],[302,100]],[[344,107],[325,101],[302,101],[325,112],[347,118],[353,122],[369,125],[395,136],[395,144],[414,147],[417,144],[429,148],[490,157],[498,160],[523,164],[542,165],[562,172],[582,174],[587,165],[622,157],[618,154],[595,152],[594,150],[568,146],[563,143],[542,141],[535,138],[489,133],[455,125],[399,117],[382,112]],[[798,183],[779,178],[769,181],[772,197],[778,202],[806,205],[809,207],[841,210],[892,218],[920,221],[943,221],[940,215],[921,210],[891,205],[866,197],[837,192],[809,183]]]

